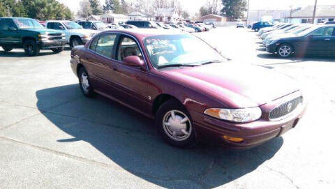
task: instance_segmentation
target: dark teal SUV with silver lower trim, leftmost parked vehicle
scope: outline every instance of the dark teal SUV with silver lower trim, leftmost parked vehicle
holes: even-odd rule
[[[9,52],[23,48],[29,56],[37,56],[40,49],[59,53],[66,44],[65,34],[53,29],[45,29],[31,18],[0,17],[0,46]]]

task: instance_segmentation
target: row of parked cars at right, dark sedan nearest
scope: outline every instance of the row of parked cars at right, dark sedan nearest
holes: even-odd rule
[[[258,36],[267,52],[281,57],[335,54],[335,24],[277,24]]]

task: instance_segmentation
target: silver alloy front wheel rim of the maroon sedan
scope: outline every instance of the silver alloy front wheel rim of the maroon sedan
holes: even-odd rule
[[[163,116],[163,129],[168,137],[178,142],[188,139],[192,133],[190,119],[178,110],[171,110]]]

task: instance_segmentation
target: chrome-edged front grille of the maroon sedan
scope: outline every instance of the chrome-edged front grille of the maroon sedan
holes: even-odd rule
[[[302,101],[303,98],[302,96],[300,96],[286,103],[283,103],[282,105],[279,105],[278,107],[271,110],[269,114],[269,119],[281,119],[283,116],[287,116],[291,112],[295,111],[295,109],[297,109],[297,107],[302,104]]]

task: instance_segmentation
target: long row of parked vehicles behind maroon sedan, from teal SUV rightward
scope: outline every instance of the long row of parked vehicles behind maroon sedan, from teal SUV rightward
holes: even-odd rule
[[[171,29],[188,33],[209,31],[215,25],[165,24],[153,21],[128,21],[119,24],[105,24],[100,21],[48,20],[38,21],[25,17],[0,17],[0,46],[5,52],[23,48],[29,56],[37,56],[40,50],[59,53],[66,44],[70,47],[86,44],[96,33],[109,29]]]

